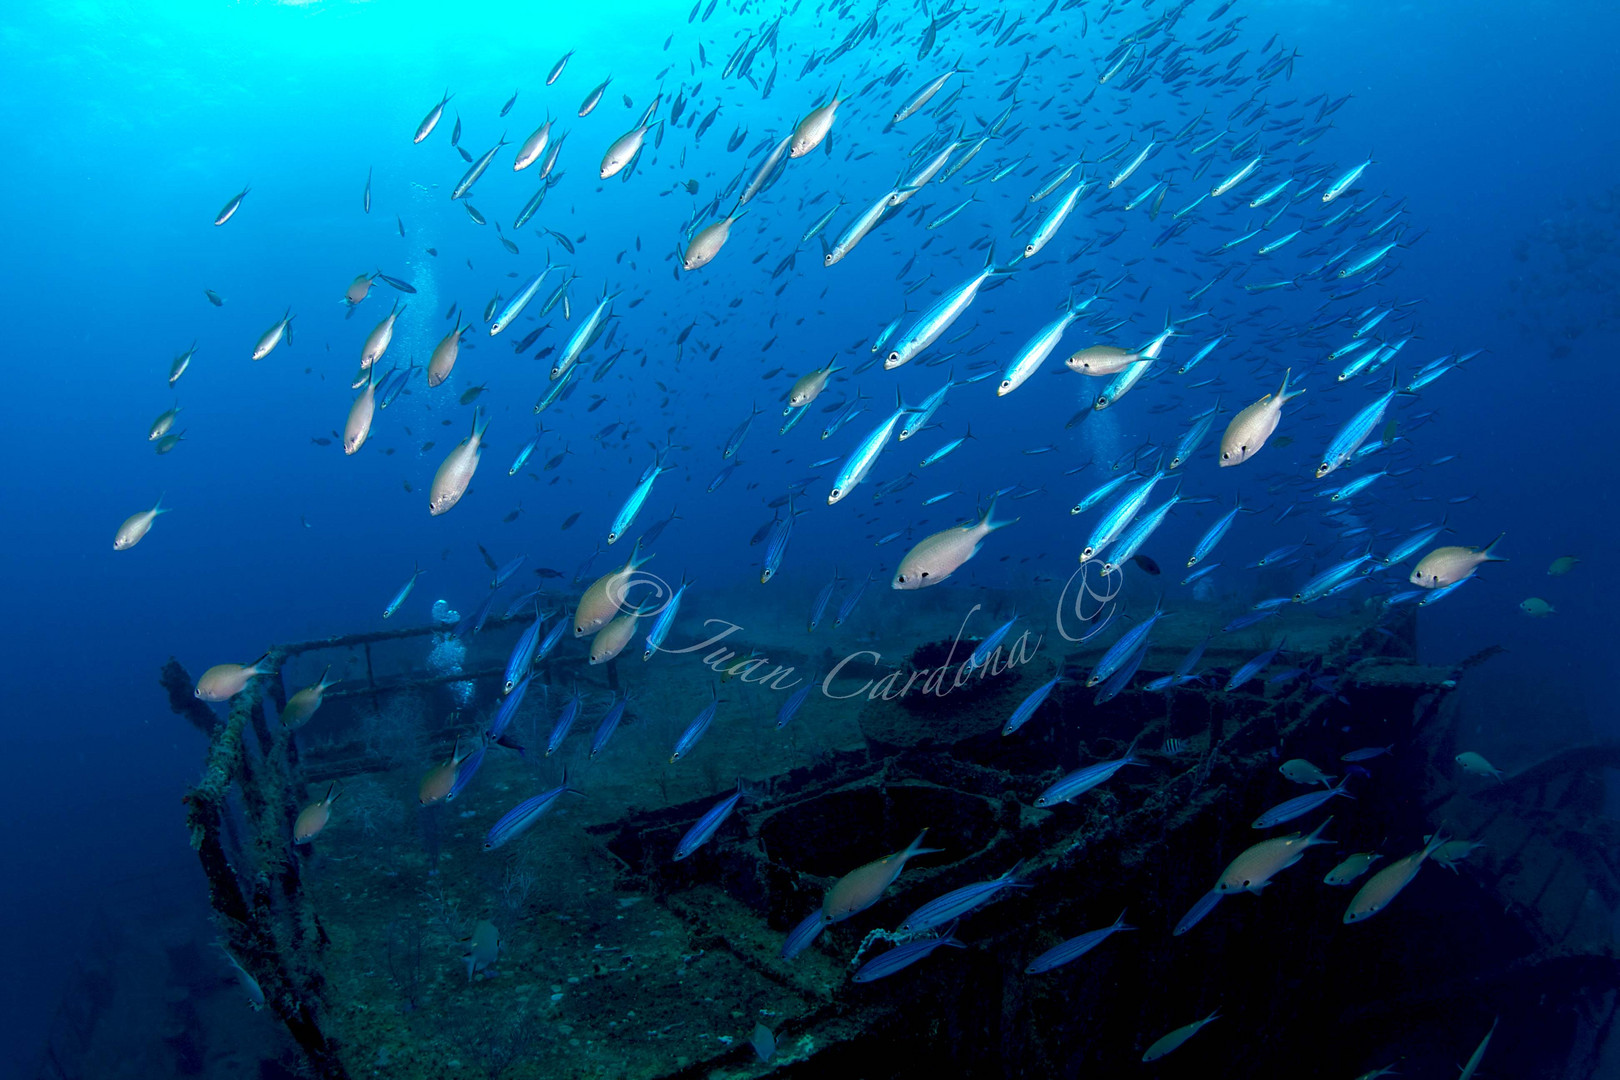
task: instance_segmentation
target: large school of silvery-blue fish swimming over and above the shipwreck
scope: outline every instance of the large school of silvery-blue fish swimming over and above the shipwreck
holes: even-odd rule
[[[343,457],[376,453],[379,436],[415,437],[389,411],[400,395],[426,402],[458,434],[436,457],[426,457],[434,444],[424,442],[418,452],[424,466],[403,481],[405,497],[426,504],[429,517],[450,515],[452,529],[457,508],[470,500],[517,502],[507,517],[515,520],[522,502],[507,492],[526,487],[523,476],[538,481],[561,468],[599,468],[590,483],[622,492],[622,504],[612,497],[616,515],[591,512],[586,521],[596,552],[575,572],[577,599],[567,607],[548,607],[538,588],[518,588],[497,609],[496,594],[518,573],[523,555],[502,565],[484,552],[492,588],[475,597],[476,610],[457,633],[476,633],[496,610],[522,617],[525,631],[496,714],[431,766],[420,785],[423,805],[462,797],[486,750],[510,745],[507,724],[535,664],[552,649],[585,649],[590,664],[654,661],[700,586],[682,578],[677,591],[643,602],[642,567],[664,528],[680,520],[677,502],[688,513],[698,510],[734,473],[771,499],[761,510],[771,517],[750,542],[763,544],[763,588],[779,588],[770,583],[792,573],[795,529],[820,525],[844,538],[865,529],[880,536],[876,549],[904,539],[891,559],[880,551],[852,576],[834,572],[816,594],[810,630],[834,596],[844,599],[833,625],[842,625],[872,581],[888,581],[896,593],[889,602],[902,606],[910,602],[907,593],[970,580],[972,560],[987,551],[1003,562],[1016,557],[1021,580],[1037,583],[1053,580],[1037,570],[1048,552],[1069,568],[1079,563],[1105,576],[1158,575],[1152,554],[1184,559],[1197,568],[1179,583],[1183,594],[1213,575],[1236,583],[1257,581],[1252,572],[1260,567],[1290,575],[1286,594],[1212,627],[1215,635],[1257,625],[1291,604],[1349,599],[1383,610],[1434,604],[1502,560],[1502,536],[1448,536],[1450,508],[1471,497],[1445,487],[1452,453],[1424,439],[1435,395],[1445,389],[1437,381],[1452,372],[1460,379],[1489,361],[1476,363],[1482,350],[1466,343],[1416,355],[1432,345],[1421,334],[1421,296],[1400,282],[1398,269],[1422,230],[1403,199],[1382,191],[1371,154],[1332,157],[1314,149],[1349,96],[1294,91],[1298,53],[1275,36],[1251,40],[1233,0],[831,2],[813,13],[802,3],[771,13],[729,3],[716,15],[718,5],[700,0],[685,24],[671,29],[661,70],[609,74],[608,65],[586,70],[596,60],[569,52],[543,84],[501,108],[499,117],[512,112],[512,128],[492,105],[433,87],[437,102],[415,131],[382,133],[418,144],[413,178],[460,204],[467,251],[455,254],[483,277],[488,298],[467,295],[444,313],[426,311],[413,296],[439,251],[413,261],[382,256],[399,275],[377,269],[363,270],[347,288],[332,282],[343,319],[295,313],[284,296],[233,295],[230,304],[258,313],[262,334],[241,340],[230,356],[193,343],[167,366],[165,392],[178,395],[198,364],[292,363],[296,321],[296,353],[316,340],[332,356],[350,358],[319,361],[335,381],[347,377],[353,392],[345,398],[322,390],[324,418],[311,418],[316,427],[332,426],[330,439],[313,442],[334,455],[334,470],[343,468]],[[462,110],[454,130],[452,108]],[[873,183],[873,175],[886,180]],[[371,214],[376,199],[395,214],[405,238],[410,210],[389,206],[389,178],[381,172],[376,178],[374,193],[368,168],[352,212]],[[620,214],[620,185],[656,193],[659,212],[635,222],[632,248],[595,249],[596,225],[582,222]],[[481,212],[475,199],[499,212]],[[557,207],[564,199],[572,202]],[[264,202],[243,186],[212,223],[228,236]],[[821,259],[800,259],[812,243]],[[484,267],[501,259],[502,269],[475,270],[475,257]],[[373,251],[355,253],[356,266],[377,261]],[[862,290],[888,313],[870,327],[818,316],[815,295],[850,274],[867,275]],[[377,283],[397,293],[386,313],[371,300]],[[1006,316],[1019,306],[1009,296],[1043,314]],[[206,300],[214,309],[227,303],[214,290]],[[356,314],[369,330],[345,325]],[[747,329],[734,325],[739,317],[748,319]],[[442,335],[441,324],[450,325]],[[399,356],[394,342],[403,327],[434,327],[437,345],[426,363]],[[734,348],[739,334],[744,343]],[[1051,358],[1061,363],[1048,364]],[[697,402],[711,379],[753,387],[747,416],[680,402]],[[1053,413],[1053,398],[1061,415]],[[645,406],[651,400],[659,402],[653,415],[679,419],[654,429]],[[599,406],[612,423],[588,434],[585,415]],[[781,415],[773,416],[771,406]],[[180,413],[175,400],[147,424],[157,453],[185,439],[175,431]],[[530,426],[515,419],[522,413],[539,419]],[[1017,436],[987,434],[1006,429],[998,413],[1014,418]],[[800,427],[808,415],[823,419]],[[978,423],[977,437],[969,419]],[[643,437],[645,450],[629,442],[632,434]],[[326,450],[330,444],[342,455]],[[480,470],[484,450],[496,447],[520,449],[505,473]],[[1047,470],[1040,455],[1048,452],[1056,452],[1059,470],[1027,483]],[[693,473],[705,461],[718,470],[713,479]],[[978,491],[977,510],[927,513],[966,495],[946,486],[949,471],[969,461],[1011,483]],[[1236,473],[1221,473],[1226,468]],[[1241,478],[1241,500],[1212,494],[1230,476]],[[917,487],[922,478],[938,481],[940,491]],[[413,479],[426,491],[416,491]],[[371,492],[356,497],[363,494]],[[162,542],[165,529],[180,528],[204,504],[199,492],[177,491],[157,500],[139,495],[126,508],[149,500],[149,510],[118,526],[115,551]],[[1196,512],[1207,521],[1196,544],[1155,539],[1165,536],[1163,525],[1187,521],[1199,505],[1207,507]],[[667,517],[646,526],[643,513],[653,507],[667,508]],[[178,517],[164,517],[172,512]],[[795,525],[805,515],[813,517]],[[578,512],[564,529],[575,520]],[[616,557],[617,565],[593,573],[598,554],[629,536],[635,541],[624,562]],[[1306,539],[1293,542],[1299,536]],[[1244,567],[1244,555],[1231,554],[1239,546],[1268,554]],[[1233,562],[1221,567],[1218,555]],[[1560,560],[1565,565],[1555,563],[1549,575],[1562,576],[1575,562]],[[392,580],[358,563],[356,573],[379,575],[379,614],[389,619],[410,602],[423,570],[418,563],[386,604],[403,568]],[[1098,687],[1098,701],[1131,685],[1155,625],[1176,614],[1178,586],[1163,594],[1168,599],[1132,620],[1089,675],[1059,672],[1037,688],[1008,719],[1004,735],[1027,737],[1059,683]],[[1523,610],[1554,610],[1533,601]],[[1008,620],[987,640],[975,665],[991,662],[1011,628]],[[630,648],[637,635],[645,649]],[[569,646],[565,638],[586,641]],[[1218,682],[1199,670],[1202,649],[1155,688]],[[642,659],[629,659],[637,651]],[[1225,690],[1262,678],[1285,654],[1278,640],[1239,670],[1223,672]],[[750,662],[744,657],[723,678],[747,677]],[[196,696],[228,701],[254,677],[274,674],[261,664],[211,667]],[[295,693],[284,722],[308,722],[332,685],[322,675]],[[799,695],[782,706],[778,727],[802,701]],[[591,758],[609,753],[629,703],[629,696],[611,703],[595,729]],[[723,706],[713,691],[672,746],[671,763],[703,753]],[[575,690],[552,727],[548,756],[567,743],[582,712]],[[1349,795],[1351,774],[1374,776],[1379,753],[1346,755],[1351,764],[1336,784],[1309,761],[1290,761],[1283,776],[1309,790],[1254,826],[1272,829]],[[1460,755],[1458,764],[1481,782],[1500,779],[1479,755]],[[1024,797],[1064,813],[1126,766],[1150,767],[1150,761],[1131,743],[1119,756],[1055,776],[1045,790]],[[577,792],[564,774],[556,787],[515,801],[489,829],[484,848],[517,842],[567,793]],[[340,782],[324,789],[298,814],[290,842],[318,844],[342,810],[340,795]],[[747,801],[748,789],[739,784],[692,824],[671,858],[700,858],[706,844],[723,842]],[[1311,858],[1312,847],[1332,844],[1324,839],[1328,824],[1272,836],[1238,853],[1173,933],[1191,931],[1228,895],[1260,894],[1277,874]],[[1413,823],[1414,834],[1419,826]],[[789,934],[782,957],[791,960],[826,926],[876,904],[909,860],[940,850],[922,842],[919,836],[838,879]],[[948,837],[935,842],[949,845]],[[1439,834],[1408,855],[1351,855],[1327,871],[1324,887],[1366,876],[1343,916],[1346,925],[1364,921],[1388,908],[1427,861],[1452,865],[1442,853],[1447,844],[1452,837]],[[1382,865],[1374,870],[1375,863]],[[966,947],[957,925],[1037,873],[1014,866],[930,900],[852,980],[894,975],[941,946]],[[1042,941],[1025,970],[1043,975],[1129,929],[1121,915],[1068,941]],[[499,939],[492,925],[480,923],[468,980],[496,963]],[[1212,1010],[1157,1041],[1144,1038],[1142,1059],[1170,1054],[1217,1018]]]

